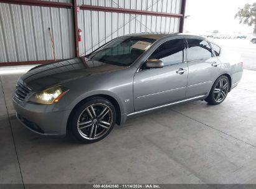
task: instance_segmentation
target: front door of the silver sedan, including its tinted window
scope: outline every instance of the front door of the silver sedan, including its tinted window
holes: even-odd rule
[[[148,57],[164,63],[163,68],[144,66],[134,76],[135,111],[153,108],[185,98],[187,64],[184,63],[185,40],[173,39],[159,45]]]

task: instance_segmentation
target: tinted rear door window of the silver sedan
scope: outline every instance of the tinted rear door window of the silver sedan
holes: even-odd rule
[[[189,60],[200,60],[212,57],[212,50],[208,42],[200,39],[187,39]]]

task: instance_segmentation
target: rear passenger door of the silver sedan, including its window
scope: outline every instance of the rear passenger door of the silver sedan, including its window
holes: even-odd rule
[[[212,53],[209,42],[203,39],[186,39],[189,67],[186,97],[206,94],[219,73],[220,62]]]

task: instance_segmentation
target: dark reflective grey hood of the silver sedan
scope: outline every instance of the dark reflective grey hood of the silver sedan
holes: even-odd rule
[[[21,76],[21,82],[33,91],[41,91],[50,86],[61,85],[78,78],[123,70],[125,68],[127,67],[78,57],[34,67]]]

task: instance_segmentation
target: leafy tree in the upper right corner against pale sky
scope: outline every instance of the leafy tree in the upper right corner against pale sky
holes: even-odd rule
[[[244,8],[239,8],[235,19],[239,17],[240,24],[248,24],[249,26],[254,25],[254,34],[256,34],[256,2],[253,4],[245,4]]]

